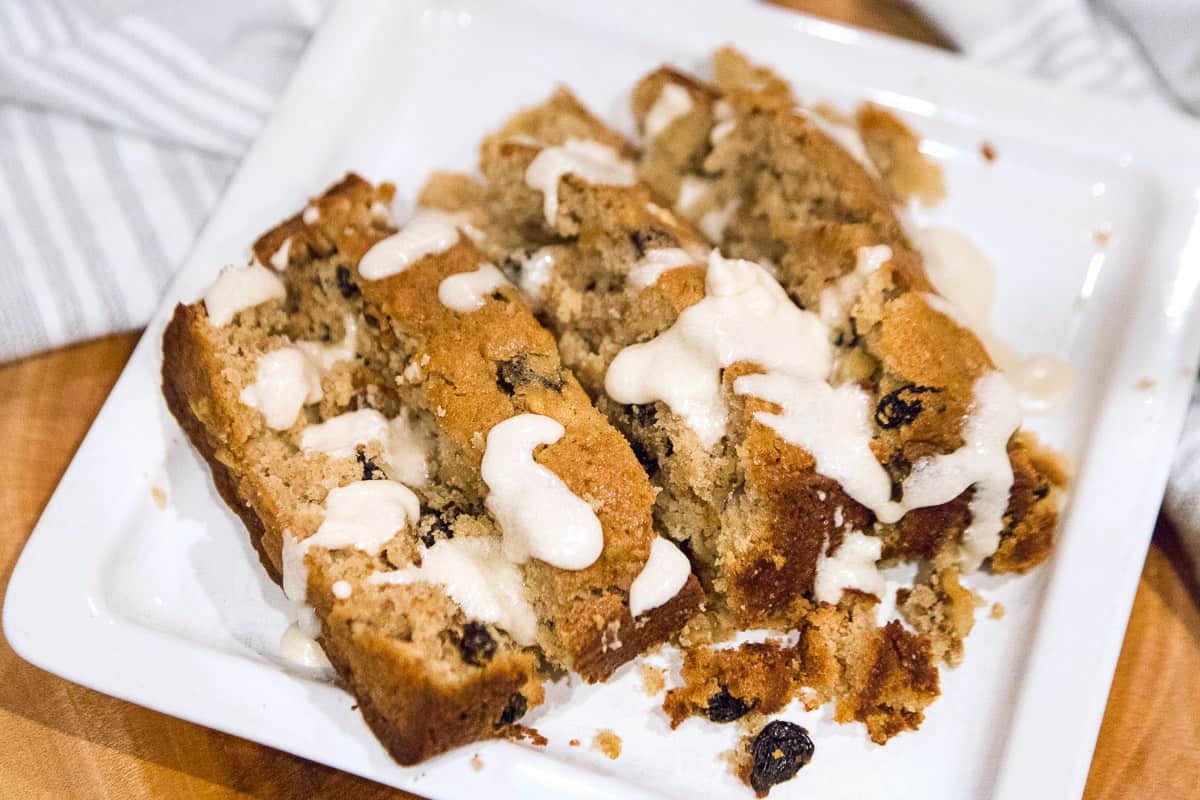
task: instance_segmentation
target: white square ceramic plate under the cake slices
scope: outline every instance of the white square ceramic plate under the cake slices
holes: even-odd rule
[[[438,798],[751,796],[718,757],[734,727],[689,721],[670,733],[631,667],[605,686],[556,687],[530,720],[545,750],[488,742],[396,766],[348,694],[289,675],[276,657],[283,597],[158,392],[174,303],[344,170],[395,180],[410,199],[431,169],[473,168],[480,137],[559,82],[628,128],[640,74],[662,61],[702,70],[724,43],[778,67],[808,100],[874,100],[925,134],[950,192],[924,222],[966,231],[991,257],[1001,333],[1025,353],[1069,359],[1075,374],[1070,404],[1031,420],[1078,465],[1054,559],[1026,578],[976,579],[1008,614],[980,614],[920,732],[876,747],[827,712],[790,710],[817,752],[773,796],[1076,796],[1200,349],[1200,128],[749,2],[342,4],[25,547],[4,618],[17,652]],[[995,163],[980,157],[983,140]],[[166,509],[152,486],[167,489]],[[624,739],[618,760],[587,746],[599,728]]]

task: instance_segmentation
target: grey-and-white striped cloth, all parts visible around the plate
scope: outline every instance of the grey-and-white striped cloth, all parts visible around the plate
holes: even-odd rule
[[[1200,112],[1196,0],[916,0],[968,56]],[[0,361],[145,324],[326,0],[0,0]],[[1200,410],[1166,499],[1200,552]]]

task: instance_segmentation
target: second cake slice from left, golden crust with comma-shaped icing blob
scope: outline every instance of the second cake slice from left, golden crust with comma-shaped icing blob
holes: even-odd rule
[[[460,227],[474,231],[425,209],[359,243],[354,279],[380,323],[380,368],[432,421],[437,481],[486,498],[504,555],[524,565],[544,652],[604,680],[678,631],[703,593],[655,535],[654,489],[629,444]]]

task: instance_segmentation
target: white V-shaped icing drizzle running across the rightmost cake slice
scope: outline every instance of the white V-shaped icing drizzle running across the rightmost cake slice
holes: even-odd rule
[[[1002,373],[991,372],[976,381],[974,402],[962,426],[964,446],[914,463],[899,501],[890,499],[890,479],[870,450],[870,404],[854,386],[833,389],[822,380],[766,374],[738,378],[734,391],[779,405],[779,414],[758,411],[755,419],[808,450],[818,473],[836,480],[881,522],[894,523],[912,509],[949,503],[973,486],[971,524],[962,534],[962,569],[979,569],[996,551],[1013,486],[1008,440],[1021,423],[1016,393]]]

